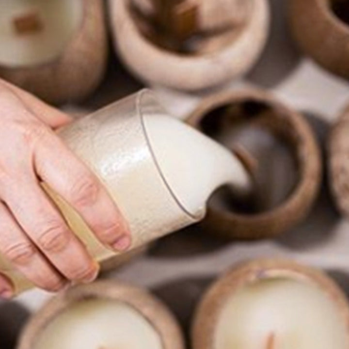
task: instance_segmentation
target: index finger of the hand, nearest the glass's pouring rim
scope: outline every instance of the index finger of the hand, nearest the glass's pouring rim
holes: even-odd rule
[[[46,142],[35,152],[37,174],[77,210],[104,245],[127,250],[131,244],[127,222],[106,189],[59,138]]]

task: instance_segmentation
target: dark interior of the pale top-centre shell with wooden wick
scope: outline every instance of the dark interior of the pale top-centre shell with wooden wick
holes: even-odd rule
[[[139,32],[153,45],[181,55],[208,54],[228,47],[241,35],[249,20],[246,13],[231,26],[206,30],[200,26],[199,1],[149,2],[155,3],[151,13],[144,13],[137,1],[129,4]]]

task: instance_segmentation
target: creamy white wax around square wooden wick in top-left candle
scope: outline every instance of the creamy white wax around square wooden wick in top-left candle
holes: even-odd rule
[[[42,30],[18,33],[14,19],[35,13]],[[0,0],[0,64],[23,66],[57,58],[82,22],[82,1]]]

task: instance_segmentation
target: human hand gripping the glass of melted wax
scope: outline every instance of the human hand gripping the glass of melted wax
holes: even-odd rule
[[[98,265],[40,186],[73,206],[113,250],[127,250],[127,223],[110,195],[53,129],[70,118],[0,80],[0,254],[36,286],[58,291],[90,282]],[[13,294],[0,271],[0,297]]]

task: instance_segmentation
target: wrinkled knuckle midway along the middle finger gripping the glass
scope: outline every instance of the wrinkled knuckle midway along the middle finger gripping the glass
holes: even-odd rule
[[[51,223],[39,235],[38,244],[47,252],[61,252],[69,243],[68,228],[62,223]]]

